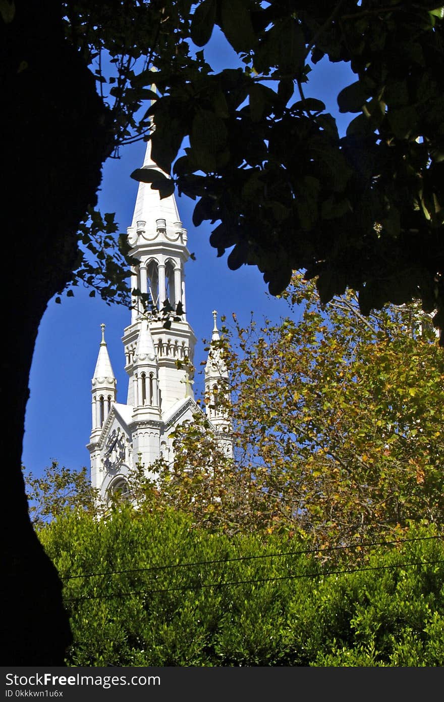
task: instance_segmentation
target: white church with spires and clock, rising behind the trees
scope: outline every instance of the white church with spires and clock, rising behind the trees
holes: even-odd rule
[[[145,168],[158,168],[151,159],[150,143]],[[102,324],[102,340],[92,379],[91,482],[105,500],[121,490],[137,464],[149,466],[163,456],[173,461],[171,432],[201,411],[194,399],[190,367],[196,337],[187,319],[184,265],[189,258],[187,230],[182,227],[174,195],[160,199],[159,191],[140,183],[133,222],[128,227],[130,255],[140,263],[131,271],[131,288],[140,291],[157,310],[165,300],[180,321],[171,318],[169,329],[161,319],[144,311],[140,296],[133,296],[130,325],[123,331],[128,374],[126,402],[117,402],[116,378],[109,359]],[[160,315],[159,315],[160,316]],[[216,312],[212,340],[220,338]],[[187,364],[189,360],[190,365]],[[210,430],[231,451],[226,416],[220,411],[217,392],[228,378],[217,350],[210,351],[205,369],[206,405]]]

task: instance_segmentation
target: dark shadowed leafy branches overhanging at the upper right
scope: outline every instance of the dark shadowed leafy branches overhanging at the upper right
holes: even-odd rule
[[[196,3],[198,56],[217,27],[243,68],[160,67],[153,154],[199,198],[194,224],[217,223],[218,254],[234,247],[229,267],[257,265],[274,294],[304,270],[323,302],[358,291],[364,314],[419,298],[443,328],[443,16],[427,0]],[[356,77],[337,94],[343,138],[311,94],[323,57]]]

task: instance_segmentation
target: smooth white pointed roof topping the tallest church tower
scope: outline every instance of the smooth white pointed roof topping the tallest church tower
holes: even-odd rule
[[[163,173],[151,157],[151,141],[147,143],[143,166]],[[147,223],[147,229],[154,227],[155,230],[158,219],[166,220],[167,225],[180,222],[174,195],[161,200],[159,190],[153,190],[150,183],[139,183],[131,227],[137,227],[137,222],[142,221]]]

